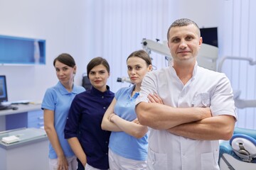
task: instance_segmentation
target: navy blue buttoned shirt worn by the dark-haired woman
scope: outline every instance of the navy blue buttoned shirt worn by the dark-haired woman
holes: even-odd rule
[[[109,169],[110,131],[102,130],[101,123],[113,98],[109,86],[105,92],[92,86],[92,89],[75,96],[65,125],[65,138],[78,137],[87,164],[97,169]],[[78,166],[82,164],[78,162]]]

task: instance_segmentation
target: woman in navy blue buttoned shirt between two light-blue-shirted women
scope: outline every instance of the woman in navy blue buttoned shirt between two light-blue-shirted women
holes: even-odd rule
[[[65,138],[78,157],[78,169],[109,169],[108,142],[110,132],[101,122],[114,93],[107,86],[110,65],[102,57],[87,64],[87,77],[92,88],[75,96],[65,125]],[[82,134],[82,135],[80,135]]]

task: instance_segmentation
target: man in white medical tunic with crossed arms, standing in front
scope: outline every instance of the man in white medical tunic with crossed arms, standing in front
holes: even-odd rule
[[[218,140],[232,137],[236,121],[230,81],[198,66],[195,22],[174,21],[167,39],[173,61],[146,74],[136,102],[139,123],[151,128],[147,169],[220,169]]]

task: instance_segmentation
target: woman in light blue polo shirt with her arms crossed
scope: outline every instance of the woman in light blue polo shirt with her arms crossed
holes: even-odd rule
[[[142,79],[152,69],[144,50],[127,58],[127,73],[132,86],[119,89],[102,120],[102,129],[112,131],[109,145],[110,169],[146,169],[147,127],[139,125],[135,100],[139,97]]]

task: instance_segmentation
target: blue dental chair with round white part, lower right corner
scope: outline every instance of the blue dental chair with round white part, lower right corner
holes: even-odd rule
[[[256,170],[256,130],[235,128],[230,141],[220,142],[221,170]]]

